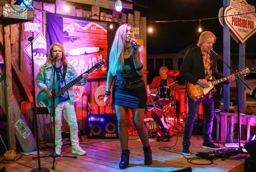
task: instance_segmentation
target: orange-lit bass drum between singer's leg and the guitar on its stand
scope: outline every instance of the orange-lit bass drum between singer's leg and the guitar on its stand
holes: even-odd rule
[[[164,111],[161,107],[157,105],[156,102],[156,109],[159,115],[163,115]],[[156,113],[154,106],[152,104],[147,104],[146,111],[144,115],[144,123],[147,125],[150,133],[157,133],[157,124],[156,121],[152,118],[152,113]]]

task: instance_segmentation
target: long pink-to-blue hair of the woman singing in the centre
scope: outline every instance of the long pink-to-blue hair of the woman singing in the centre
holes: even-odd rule
[[[109,53],[109,71],[113,76],[116,76],[123,71],[124,58],[122,52],[127,44],[125,39],[127,36],[126,29],[128,26],[130,26],[133,30],[133,27],[130,24],[124,24],[119,26],[115,33],[115,38]]]

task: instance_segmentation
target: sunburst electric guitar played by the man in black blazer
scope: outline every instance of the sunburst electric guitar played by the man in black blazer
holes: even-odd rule
[[[246,75],[249,74],[250,70],[249,68],[243,69],[243,71],[241,72],[237,72],[237,75]],[[200,101],[200,100],[204,100],[205,97],[207,97],[209,91],[211,91],[214,88],[214,85],[220,84],[221,82],[227,81],[228,79],[231,78],[231,75],[227,76],[227,77],[223,77],[220,79],[215,79],[212,76],[209,76],[205,79],[207,79],[208,83],[209,83],[209,87],[204,88],[199,84],[191,84],[190,82],[188,82],[187,84],[187,91],[188,91],[188,95],[189,97],[191,97],[193,100],[195,101]],[[212,92],[216,91],[215,88],[214,90],[212,90]]]

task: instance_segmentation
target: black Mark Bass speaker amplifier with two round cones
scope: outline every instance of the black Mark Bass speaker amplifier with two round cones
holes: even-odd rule
[[[89,114],[87,116],[88,139],[118,139],[115,114]]]

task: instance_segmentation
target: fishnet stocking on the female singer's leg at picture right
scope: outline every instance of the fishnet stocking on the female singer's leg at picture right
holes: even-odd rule
[[[140,136],[140,140],[144,147],[148,147],[148,128],[144,123],[145,108],[133,108],[133,122]]]

